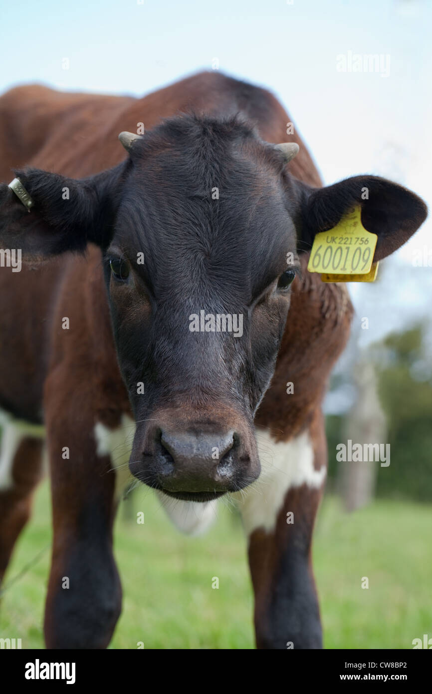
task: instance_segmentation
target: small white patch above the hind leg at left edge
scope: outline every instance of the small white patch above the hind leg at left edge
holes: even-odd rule
[[[0,410],[0,424],[0,490],[6,490],[13,486],[12,468],[19,444],[28,437],[44,439],[45,429],[40,424],[14,419],[3,410]]]

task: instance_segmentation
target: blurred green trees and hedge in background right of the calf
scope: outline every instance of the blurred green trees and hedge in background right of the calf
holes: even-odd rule
[[[429,323],[422,322],[404,332],[392,333],[368,348],[365,353],[366,361],[373,366],[376,374],[377,393],[386,415],[386,443],[390,443],[390,466],[381,468],[375,464],[377,496],[432,501],[432,354],[428,343],[430,327]],[[363,410],[363,405],[359,404],[358,407],[360,411]],[[360,489],[348,493],[346,486],[344,491],[344,484],[355,484],[354,473],[348,483],[338,474],[339,468],[336,463],[337,443],[346,441],[347,438],[354,441],[351,418],[355,416],[355,412],[354,404],[345,416],[337,414],[327,417],[327,488],[334,491],[336,486],[336,491],[343,493],[344,498],[347,498],[347,494],[358,494],[359,498],[364,495],[364,491]],[[358,436],[360,437],[360,434]],[[363,436],[363,441],[372,442],[370,434]],[[381,438],[381,441],[383,440]],[[363,482],[360,481],[358,484],[361,486]],[[373,482],[370,480],[369,484]]]

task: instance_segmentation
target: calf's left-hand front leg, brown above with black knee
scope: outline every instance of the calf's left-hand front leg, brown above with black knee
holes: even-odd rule
[[[46,415],[53,557],[45,641],[47,648],[106,648],[121,612],[112,552],[115,473],[107,452],[98,452],[97,417],[87,410],[86,398],[58,400],[53,398],[55,407]]]

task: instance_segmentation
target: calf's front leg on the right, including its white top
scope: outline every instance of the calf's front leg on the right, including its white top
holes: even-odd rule
[[[325,442],[258,435],[263,471],[240,496],[248,534],[258,648],[322,648],[311,536],[325,479]],[[320,464],[321,463],[321,464]]]

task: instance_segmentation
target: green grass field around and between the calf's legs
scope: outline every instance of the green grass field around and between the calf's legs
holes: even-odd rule
[[[241,522],[221,505],[203,537],[178,533],[153,493],[135,493],[130,514],[145,523],[116,523],[115,551],[123,581],[123,613],[110,648],[253,648],[252,591]],[[323,503],[314,564],[326,648],[412,648],[432,636],[432,511],[426,506],[374,502],[346,515],[334,498]],[[16,581],[51,537],[49,489],[35,498],[6,577],[0,637],[43,648],[42,613],[49,548]],[[212,589],[218,577],[219,588]],[[361,588],[368,577],[369,589]]]

